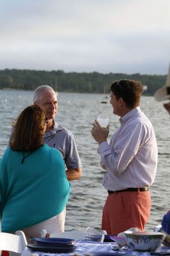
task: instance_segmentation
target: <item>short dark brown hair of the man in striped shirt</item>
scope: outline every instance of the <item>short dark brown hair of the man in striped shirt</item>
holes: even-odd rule
[[[111,84],[116,99],[122,98],[128,108],[139,106],[143,85],[139,81],[121,79]]]

